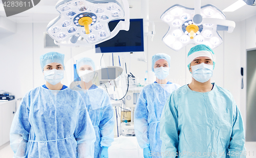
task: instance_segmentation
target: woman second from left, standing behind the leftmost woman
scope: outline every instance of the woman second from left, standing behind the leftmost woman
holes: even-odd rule
[[[76,62],[81,82],[76,90],[81,94],[96,133],[94,158],[108,158],[108,148],[114,141],[114,112],[109,95],[93,84],[95,63],[91,58],[80,58]]]

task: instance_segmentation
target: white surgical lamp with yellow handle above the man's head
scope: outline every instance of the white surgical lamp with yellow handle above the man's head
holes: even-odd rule
[[[195,9],[174,5],[161,15],[169,25],[162,39],[169,48],[179,51],[193,43],[206,44],[214,49],[222,43],[218,31],[233,32],[236,23],[226,20],[221,10],[212,5],[200,6],[201,1],[195,0]]]

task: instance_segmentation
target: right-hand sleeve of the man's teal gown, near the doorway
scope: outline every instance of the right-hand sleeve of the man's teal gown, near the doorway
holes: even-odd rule
[[[233,126],[228,147],[229,157],[246,157],[245,156],[245,131],[242,116],[240,110],[237,107],[236,102],[231,96],[232,109],[233,109]],[[239,153],[239,155],[236,153]]]

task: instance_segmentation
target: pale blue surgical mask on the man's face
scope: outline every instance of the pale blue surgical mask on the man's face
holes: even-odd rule
[[[212,77],[214,71],[214,65],[201,63],[198,65],[191,66],[192,77],[198,82],[204,83]]]

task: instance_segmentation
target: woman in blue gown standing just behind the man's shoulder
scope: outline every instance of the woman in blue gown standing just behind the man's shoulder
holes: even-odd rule
[[[170,56],[164,53],[152,57],[152,71],[156,81],[145,86],[139,96],[134,114],[134,127],[137,141],[147,157],[161,157],[159,122],[162,109],[169,95],[180,85],[167,81],[170,69]]]

